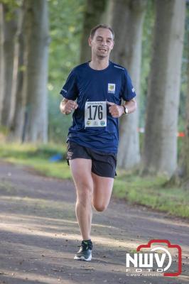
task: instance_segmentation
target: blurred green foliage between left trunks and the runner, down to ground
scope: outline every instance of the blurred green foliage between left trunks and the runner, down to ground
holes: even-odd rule
[[[65,80],[75,65],[79,64],[82,18],[85,0],[49,0],[49,139],[65,141],[71,116],[60,114],[60,96]]]

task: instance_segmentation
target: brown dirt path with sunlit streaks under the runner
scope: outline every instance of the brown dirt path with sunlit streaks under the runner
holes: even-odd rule
[[[80,233],[68,180],[0,162],[0,222],[0,283],[189,283],[188,223],[114,199],[106,212],[94,212],[93,260],[74,261]],[[182,275],[126,276],[125,253],[150,239],[182,246]]]

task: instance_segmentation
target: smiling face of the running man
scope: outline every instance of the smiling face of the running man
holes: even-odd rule
[[[89,38],[89,45],[92,54],[97,58],[109,58],[109,54],[114,47],[112,32],[108,28],[98,28],[93,38]]]

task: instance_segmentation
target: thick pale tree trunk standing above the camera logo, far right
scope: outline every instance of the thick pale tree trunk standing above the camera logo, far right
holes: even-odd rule
[[[177,124],[185,0],[156,1],[143,173],[172,175],[177,166]]]

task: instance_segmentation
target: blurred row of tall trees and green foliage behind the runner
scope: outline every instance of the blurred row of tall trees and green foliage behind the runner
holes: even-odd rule
[[[129,71],[138,97],[138,111],[120,119],[119,167],[171,176],[180,158],[188,169],[188,158],[181,158],[182,148],[185,157],[189,152],[188,6],[185,0],[1,0],[6,141],[65,143],[71,116],[60,114],[60,89],[75,65],[90,60],[90,29],[107,23],[115,31],[111,59]]]

